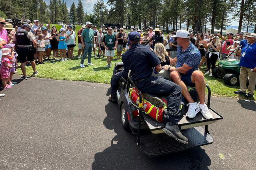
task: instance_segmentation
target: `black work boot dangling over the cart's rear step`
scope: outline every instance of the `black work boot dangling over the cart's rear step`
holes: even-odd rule
[[[176,139],[177,141],[184,143],[186,145],[188,145],[188,138],[184,137],[181,132],[180,129],[178,127],[178,125],[176,123],[173,123],[171,121],[168,121],[164,128],[163,131],[166,135]]]

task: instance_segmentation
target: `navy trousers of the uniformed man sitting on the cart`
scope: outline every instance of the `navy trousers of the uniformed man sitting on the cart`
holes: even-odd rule
[[[167,96],[166,119],[176,124],[180,121],[181,88],[179,85],[164,79],[164,77],[150,76],[136,83],[141,92],[155,96]]]

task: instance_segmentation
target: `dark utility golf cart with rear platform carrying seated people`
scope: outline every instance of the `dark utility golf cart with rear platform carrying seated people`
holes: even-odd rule
[[[123,63],[116,63],[113,75],[122,70]],[[188,138],[188,145],[182,144],[166,135],[162,131],[164,123],[152,119],[152,117],[142,110],[142,107],[136,106],[129,99],[129,89],[134,87],[139,92],[139,102],[142,104],[142,93],[129,75],[128,80],[124,80],[122,77],[120,78],[116,99],[120,108],[122,126],[125,130],[131,131],[137,135],[137,145],[140,145],[141,150],[146,153],[146,155],[158,156],[213,143],[213,138],[208,131],[208,125],[223,119],[223,117],[210,108],[211,91],[209,86],[206,85],[208,89],[207,106],[214,117],[213,119],[204,119],[201,113],[198,113],[196,117],[192,119],[186,118],[186,111],[188,109],[186,104],[188,102],[183,98],[185,106],[181,109],[182,118],[178,126],[182,134]],[[190,88],[189,92],[194,101],[199,102],[195,88]],[[163,97],[161,96],[161,98]],[[202,126],[204,126],[204,128]]]

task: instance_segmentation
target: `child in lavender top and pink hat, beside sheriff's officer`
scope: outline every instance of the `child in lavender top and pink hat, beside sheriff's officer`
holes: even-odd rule
[[[9,77],[9,80],[8,80],[8,84],[11,85],[11,86],[14,86],[14,84],[17,84],[16,82],[12,82],[12,75],[15,71],[15,63],[16,63],[16,59],[17,59],[17,56],[18,56],[18,53],[16,53],[14,51],[14,44],[6,44],[4,46],[4,48],[8,48],[8,49],[11,49],[11,53],[13,54],[12,58],[11,56],[8,57],[8,59],[10,60],[11,64],[12,64],[12,68],[10,68],[10,77]]]

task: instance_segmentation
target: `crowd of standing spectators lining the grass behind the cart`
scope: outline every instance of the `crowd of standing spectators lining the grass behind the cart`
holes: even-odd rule
[[[0,18],[0,74],[4,89],[11,88],[12,75],[16,73],[18,63],[22,69],[21,79],[26,80],[26,67],[32,66],[33,75],[38,74],[36,64],[44,64],[46,61],[73,60],[76,56],[80,60],[81,68],[84,68],[84,60],[88,59],[88,65],[94,65],[91,61],[93,57],[106,57],[106,68],[112,66],[111,61],[116,54],[117,59],[121,59],[122,52],[129,50],[130,41],[128,33],[123,28],[99,27],[92,25],[90,21],[82,25],[76,35],[76,25],[65,25],[62,23],[60,30],[51,25],[51,21],[44,26],[38,20],[31,22],[27,20],[13,27],[10,19]],[[149,27],[144,30],[134,29],[140,35],[140,43],[151,47],[160,57],[162,62],[169,62],[177,55],[176,32],[164,36],[164,31],[159,28]],[[254,93],[252,86],[256,83],[256,34],[243,32],[235,35],[227,33],[226,37],[219,33],[189,32],[190,43],[200,52],[201,61],[198,69],[206,63],[205,74],[212,76],[212,70],[216,68],[216,62],[227,58],[240,60],[240,90],[236,94],[246,94],[251,97]],[[76,41],[78,39],[78,42]],[[78,55],[74,55],[74,47],[78,43]],[[161,55],[162,46],[165,52]],[[98,50],[97,50],[98,49]],[[161,50],[160,50],[161,49]],[[98,54],[96,56],[96,51]],[[176,62],[172,63],[176,66]],[[241,74],[242,73],[242,74]],[[247,76],[250,79],[248,94],[246,93]]]

